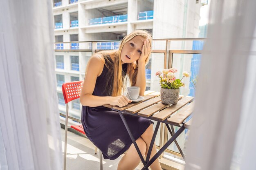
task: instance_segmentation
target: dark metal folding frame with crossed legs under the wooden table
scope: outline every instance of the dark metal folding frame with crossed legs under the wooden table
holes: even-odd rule
[[[144,165],[144,167],[141,169],[141,170],[148,170],[148,167],[164,152],[164,150],[166,150],[166,148],[168,148],[168,146],[171,145],[171,143],[173,143],[173,141],[175,142],[178,150],[180,151],[180,154],[182,155],[183,159],[185,160],[185,156],[179,146],[179,144],[177,143],[176,141],[176,138],[185,130],[184,128],[184,123],[182,123],[179,130],[177,130],[177,132],[174,133],[174,128],[173,128],[173,124],[170,124],[166,121],[166,119],[164,121],[161,121],[161,120],[157,120],[157,119],[152,119],[152,116],[150,117],[143,117],[143,116],[140,116],[138,115],[138,113],[135,113],[135,114],[132,114],[132,113],[129,113],[127,112],[126,110],[116,110],[116,109],[113,109],[112,110],[115,110],[115,111],[118,111],[123,123],[124,123],[124,126],[126,127],[126,130],[128,131],[129,133],[129,136],[130,138],[132,139],[132,143],[134,144],[138,154],[139,154],[139,157]],[[157,125],[156,125],[156,128],[155,128],[155,131],[154,131],[154,134],[153,134],[153,137],[152,137],[152,140],[150,142],[150,146],[149,146],[149,149],[148,149],[148,154],[146,155],[146,161],[144,160],[140,150],[139,150],[139,147],[137,146],[137,143],[135,142],[135,139],[130,131],[130,128],[126,122],[126,119],[124,118],[124,115],[123,113],[126,113],[126,114],[129,114],[129,115],[134,115],[134,116],[138,116],[138,117],[143,117],[143,118],[146,118],[146,119],[150,119],[150,120],[154,120],[154,121],[157,121]],[[157,135],[157,131],[159,129],[159,125],[160,123],[164,123],[166,125],[166,127],[168,128],[168,131],[170,132],[170,135],[172,136],[171,139],[169,139],[166,144],[164,144],[164,146],[162,146],[162,148],[160,148],[160,150],[149,160],[150,158],[150,155],[151,155],[151,151],[152,151],[152,148],[153,148],[153,144],[155,142],[155,137]],[[171,128],[170,128],[170,126]]]

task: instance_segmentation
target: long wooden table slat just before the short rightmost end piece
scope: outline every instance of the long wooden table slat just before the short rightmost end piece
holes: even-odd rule
[[[175,115],[167,119],[167,122],[179,126],[187,117],[189,117],[189,115],[191,115],[194,106],[195,102],[191,102],[191,104],[184,106],[179,113],[176,113]]]

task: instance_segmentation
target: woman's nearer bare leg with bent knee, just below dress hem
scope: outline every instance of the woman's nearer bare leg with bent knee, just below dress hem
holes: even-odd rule
[[[136,143],[142,156],[144,156],[147,148],[145,141],[139,137],[136,140]],[[139,158],[139,154],[134,144],[132,144],[127,150],[127,153],[119,161],[117,170],[134,170],[139,165],[140,161],[141,159]]]

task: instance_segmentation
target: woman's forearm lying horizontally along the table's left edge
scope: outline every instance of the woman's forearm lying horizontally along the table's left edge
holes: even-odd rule
[[[80,96],[80,103],[83,106],[97,107],[104,104],[109,104],[110,97],[111,96],[94,96],[85,94]]]

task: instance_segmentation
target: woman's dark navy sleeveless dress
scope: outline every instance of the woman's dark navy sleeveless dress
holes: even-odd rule
[[[110,62],[112,62],[111,59]],[[122,64],[122,69],[124,74],[126,74],[127,64]],[[104,64],[101,75],[97,77],[92,95],[108,95],[104,92],[104,86],[106,86],[109,73],[112,73],[112,69],[109,70]],[[132,116],[125,113],[124,117],[135,140],[145,132],[150,124],[153,124],[153,121],[142,117]],[[104,106],[82,106],[81,123],[88,139],[101,150],[104,159],[117,159],[128,150],[132,144],[132,140],[130,139],[119,113],[111,108],[106,108]]]

